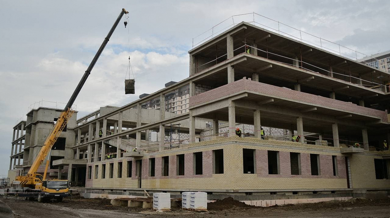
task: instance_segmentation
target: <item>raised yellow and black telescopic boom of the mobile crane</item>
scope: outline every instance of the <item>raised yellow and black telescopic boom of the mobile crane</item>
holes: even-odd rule
[[[69,118],[74,113],[73,110],[71,110],[71,107],[76,100],[78,94],[80,93],[81,88],[83,87],[85,81],[87,80],[90,72],[92,71],[92,68],[95,66],[97,59],[99,59],[99,56],[103,52],[106,44],[110,40],[110,37],[117,27],[119,21],[121,20],[122,16],[124,14],[128,14],[129,12],[126,9],[122,9],[121,13],[119,14],[118,18],[116,19],[115,23],[111,27],[110,31],[108,32],[106,38],[103,40],[103,43],[100,45],[99,49],[97,50],[94,58],[92,59],[91,63],[89,64],[87,70],[85,71],[83,77],[81,78],[80,82],[76,86],[76,89],[74,90],[71,98],[69,99],[67,105],[65,106],[64,110],[61,112],[60,116],[58,117],[57,122],[55,123],[53,129],[51,130],[48,138],[46,138],[46,141],[44,142],[41,150],[39,151],[37,157],[35,158],[33,164],[30,167],[30,170],[28,171],[26,176],[17,176],[16,181],[20,181],[20,184],[27,187],[28,185],[35,185],[40,181],[40,179],[35,178],[37,174],[38,167],[41,166],[43,161],[45,160],[46,156],[51,150],[51,147],[54,145],[54,143],[57,141],[58,136],[62,132],[62,130],[65,128]]]

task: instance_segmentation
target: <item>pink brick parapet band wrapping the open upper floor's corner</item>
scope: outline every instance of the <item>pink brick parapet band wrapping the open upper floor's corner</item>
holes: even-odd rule
[[[387,112],[385,111],[366,108],[355,105],[353,103],[325,98],[305,92],[299,92],[284,87],[277,87],[261,82],[255,82],[252,80],[247,80],[246,78],[217,87],[207,92],[200,93],[196,96],[191,96],[190,107],[211,101],[213,99],[218,99],[223,96],[228,96],[238,92],[238,90],[258,92],[259,94],[273,98],[284,98],[296,102],[310,103],[319,107],[328,107],[333,110],[344,110],[349,113],[378,117],[382,120],[382,122],[389,122]]]

